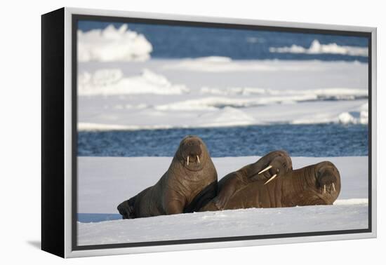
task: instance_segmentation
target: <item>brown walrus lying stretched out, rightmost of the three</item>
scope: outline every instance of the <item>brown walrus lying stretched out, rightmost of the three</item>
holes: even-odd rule
[[[338,168],[330,161],[323,161],[288,170],[272,182],[267,183],[264,179],[251,182],[234,193],[222,209],[332,205],[338,198],[340,186]],[[201,208],[201,211],[218,210],[213,201]]]

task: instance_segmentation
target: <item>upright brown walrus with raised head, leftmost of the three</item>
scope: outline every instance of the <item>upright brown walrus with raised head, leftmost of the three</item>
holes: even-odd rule
[[[187,136],[159,181],[117,209],[124,219],[199,210],[217,194],[217,172],[204,142]]]

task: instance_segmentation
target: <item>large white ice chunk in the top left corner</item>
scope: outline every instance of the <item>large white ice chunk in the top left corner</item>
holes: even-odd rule
[[[78,30],[79,62],[145,61],[152,49],[145,36],[129,30],[126,24],[119,29],[109,25],[88,32]]]

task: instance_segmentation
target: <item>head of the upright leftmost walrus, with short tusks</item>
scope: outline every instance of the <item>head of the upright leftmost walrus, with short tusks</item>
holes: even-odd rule
[[[200,137],[188,135],[180,142],[176,157],[182,165],[191,171],[198,171],[204,167],[208,158],[208,151]]]

